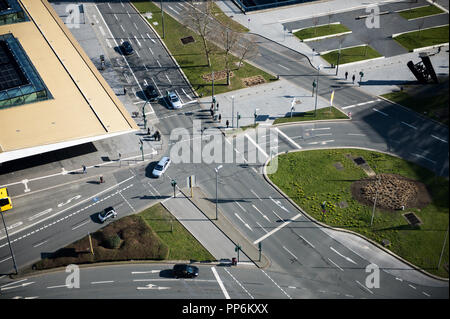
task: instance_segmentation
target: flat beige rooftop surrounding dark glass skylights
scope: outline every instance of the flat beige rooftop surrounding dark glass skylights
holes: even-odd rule
[[[17,39],[51,97],[0,107],[0,163],[137,130],[51,5],[45,0],[19,2],[29,20],[0,25],[0,36]],[[0,59],[1,54],[0,49]],[[13,78],[23,80],[16,73]],[[5,87],[11,85],[7,82]]]

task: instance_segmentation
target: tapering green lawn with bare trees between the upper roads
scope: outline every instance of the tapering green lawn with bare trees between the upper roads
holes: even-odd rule
[[[133,4],[140,12],[152,13],[152,18],[148,19],[148,21],[152,24],[158,34],[162,36],[160,9],[151,2],[134,2]],[[157,24],[155,25],[154,22]],[[195,32],[186,28],[168,14],[164,15],[164,25],[165,39],[163,40],[173,57],[183,69],[183,72],[186,74],[191,85],[199,95],[212,95],[212,83],[211,81],[205,81],[202,78],[202,75],[211,74],[213,70],[218,72],[225,69],[223,50],[210,44],[214,53],[211,55],[211,67],[208,67],[201,39]],[[187,36],[192,36],[195,39],[195,42],[183,45],[180,39]],[[235,62],[238,62],[238,59],[233,57],[232,63]],[[245,85],[243,84],[242,79],[252,76],[260,75],[266,82],[275,79],[272,75],[245,62],[239,70],[234,69],[232,71],[234,76],[231,78],[231,85],[226,85],[226,79],[216,79],[214,81],[214,94],[244,88]]]

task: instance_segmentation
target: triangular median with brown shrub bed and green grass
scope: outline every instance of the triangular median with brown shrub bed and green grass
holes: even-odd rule
[[[96,216],[92,216],[95,219]],[[44,254],[33,269],[130,260],[199,260],[214,257],[161,205],[113,220],[89,236]]]

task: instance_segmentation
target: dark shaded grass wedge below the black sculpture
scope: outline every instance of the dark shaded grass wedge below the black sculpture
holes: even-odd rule
[[[431,97],[416,96],[408,92],[393,92],[382,96],[447,126],[449,124],[448,89],[446,93],[437,93]]]

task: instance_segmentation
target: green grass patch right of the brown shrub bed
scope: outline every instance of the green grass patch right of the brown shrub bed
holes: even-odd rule
[[[161,205],[156,204],[139,214],[153,229],[161,241],[169,247],[168,260],[215,260],[215,258],[176,219],[173,232],[170,219],[173,216]]]

